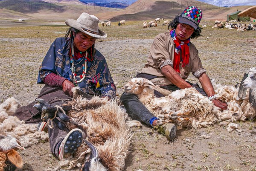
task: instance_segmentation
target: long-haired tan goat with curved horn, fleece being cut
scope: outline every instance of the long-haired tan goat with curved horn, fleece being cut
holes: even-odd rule
[[[48,106],[42,99],[37,101],[40,105]],[[71,109],[66,116],[70,118],[67,121],[67,129],[79,128],[84,134],[84,142],[77,149],[73,159],[66,158],[67,161],[64,162],[69,163],[69,169],[84,163],[82,171],[122,170],[133,135],[125,122],[127,113],[116,101],[97,96],[90,100],[78,96],[65,106],[63,105],[64,108]],[[59,109],[56,107],[56,110]],[[61,111],[57,111],[57,116]],[[91,167],[88,167],[88,164]]]

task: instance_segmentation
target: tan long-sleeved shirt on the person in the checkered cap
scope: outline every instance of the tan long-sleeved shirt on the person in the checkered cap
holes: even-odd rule
[[[172,61],[174,59],[174,53],[175,43],[172,40],[170,33],[166,32],[157,35],[151,45],[148,61],[145,64],[145,67],[138,73],[155,75],[157,77],[162,77],[159,79],[167,80],[160,69],[166,65],[173,67]],[[190,72],[192,72],[196,78],[200,77],[202,73],[206,73],[198,56],[198,50],[191,42],[189,43],[189,54],[189,64],[185,67],[181,67],[180,64],[180,77],[184,80],[188,78]],[[171,84],[171,82],[169,82],[169,84]]]

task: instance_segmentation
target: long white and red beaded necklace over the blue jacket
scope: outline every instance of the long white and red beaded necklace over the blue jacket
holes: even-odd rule
[[[80,52],[81,54],[81,52]],[[73,83],[75,86],[78,86],[78,83],[81,83],[82,81],[84,81],[85,75],[86,75],[86,70],[87,70],[87,58],[88,58],[88,53],[86,51],[85,55],[84,55],[85,59],[84,59],[84,64],[83,64],[83,73],[82,75],[80,75],[80,79],[76,80],[76,70],[75,70],[75,64],[74,64],[74,42],[72,41],[72,55],[70,56],[70,63],[72,64],[71,67],[71,71],[72,71],[72,75],[73,75]]]

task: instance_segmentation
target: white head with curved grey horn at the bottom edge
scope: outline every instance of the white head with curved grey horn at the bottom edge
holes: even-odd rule
[[[83,167],[81,168],[81,171],[108,171],[108,169],[105,168],[100,162],[100,158],[98,157],[98,151],[96,147],[86,140],[85,143],[91,149],[91,155],[89,161],[84,163]]]

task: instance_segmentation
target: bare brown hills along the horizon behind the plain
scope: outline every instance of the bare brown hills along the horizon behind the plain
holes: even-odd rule
[[[29,0],[21,1],[32,4],[26,8],[10,8],[2,4],[1,1],[0,18],[1,19],[32,19],[32,20],[51,20],[64,21],[68,18],[76,19],[82,12],[94,14],[101,21],[120,21],[120,20],[154,20],[155,18],[172,19],[180,14],[186,6],[197,6],[203,11],[202,20],[221,20],[225,21],[227,14],[243,11],[250,6],[233,6],[230,8],[213,6],[211,3],[189,0],[137,0],[125,9],[106,8],[101,6],[87,6],[79,0],[59,0],[58,3],[52,3],[51,0]],[[40,2],[40,3],[39,3]],[[41,5],[41,6],[40,6]],[[39,8],[40,7],[40,8]]]

